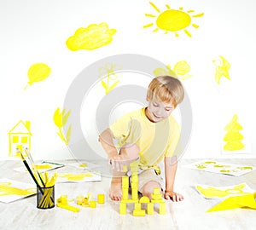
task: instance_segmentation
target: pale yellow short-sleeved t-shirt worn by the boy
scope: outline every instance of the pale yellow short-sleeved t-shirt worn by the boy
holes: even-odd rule
[[[122,147],[127,143],[135,143],[140,148],[141,164],[154,166],[164,157],[172,157],[180,136],[180,128],[175,118],[170,115],[158,123],[148,120],[145,107],[126,113],[109,128]]]

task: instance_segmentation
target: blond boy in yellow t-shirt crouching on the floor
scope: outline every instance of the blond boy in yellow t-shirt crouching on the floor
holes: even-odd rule
[[[183,195],[173,191],[177,170],[175,148],[180,136],[179,125],[171,116],[183,101],[182,83],[177,78],[160,76],[148,85],[148,106],[126,113],[99,136],[108,162],[113,168],[109,189],[110,198],[122,198],[123,165],[139,161],[138,191],[151,198],[154,187],[160,187],[164,198],[183,200]],[[118,142],[118,148],[113,144]],[[160,176],[158,164],[164,158],[166,185]]]

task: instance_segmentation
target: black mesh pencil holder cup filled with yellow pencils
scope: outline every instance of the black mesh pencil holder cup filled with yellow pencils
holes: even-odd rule
[[[55,187],[37,187],[38,209],[51,209],[55,206]]]

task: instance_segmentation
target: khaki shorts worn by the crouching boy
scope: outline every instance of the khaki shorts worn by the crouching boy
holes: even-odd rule
[[[131,176],[130,176],[131,181]],[[147,184],[149,181],[156,181],[160,184],[160,187],[163,189],[165,187],[164,180],[160,175],[157,175],[154,171],[154,169],[149,170],[143,170],[138,175],[138,191],[142,193],[142,188],[145,184]]]

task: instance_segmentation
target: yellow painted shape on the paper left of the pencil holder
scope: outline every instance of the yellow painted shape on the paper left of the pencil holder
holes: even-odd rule
[[[18,195],[28,196],[36,192],[35,187],[22,189],[19,187],[12,187],[11,182],[0,182],[0,196]]]

